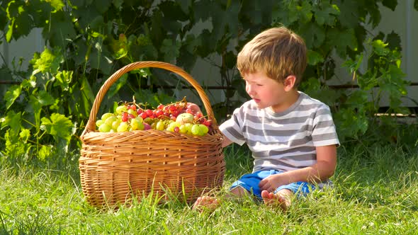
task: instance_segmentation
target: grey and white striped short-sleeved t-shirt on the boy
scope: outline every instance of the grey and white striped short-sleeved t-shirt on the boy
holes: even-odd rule
[[[254,101],[247,101],[220,125],[232,142],[247,143],[254,172],[312,166],[317,161],[315,147],[339,145],[329,107],[299,93],[298,101],[281,113],[259,109]]]

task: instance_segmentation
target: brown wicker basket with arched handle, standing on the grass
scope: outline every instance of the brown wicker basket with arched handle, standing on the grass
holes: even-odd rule
[[[214,133],[196,137],[159,130],[97,132],[96,115],[110,86],[126,72],[145,67],[166,69],[186,79],[198,91]],[[148,195],[162,200],[174,195],[193,202],[201,193],[222,186],[222,134],[208,97],[186,71],[172,64],[135,62],[116,71],[98,91],[81,141],[81,188],[96,207],[126,205],[133,197],[141,200]]]

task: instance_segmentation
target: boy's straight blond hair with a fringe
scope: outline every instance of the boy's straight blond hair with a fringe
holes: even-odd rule
[[[237,68],[242,76],[261,71],[281,83],[293,75],[298,87],[307,64],[306,53],[299,35],[285,27],[270,28],[244,45],[237,57]]]

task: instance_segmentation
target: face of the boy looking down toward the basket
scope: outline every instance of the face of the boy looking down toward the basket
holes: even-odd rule
[[[286,101],[286,90],[283,84],[270,79],[264,72],[245,74],[245,91],[255,101],[259,108],[271,107],[280,109]]]

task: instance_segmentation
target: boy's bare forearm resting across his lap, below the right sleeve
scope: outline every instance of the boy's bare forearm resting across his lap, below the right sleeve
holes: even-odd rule
[[[333,176],[337,166],[337,146],[321,146],[316,147],[316,150],[316,164],[264,178],[264,180],[261,180],[259,183],[260,189],[273,192],[281,185],[287,185],[297,181],[319,183]]]

